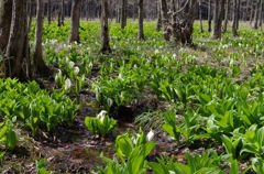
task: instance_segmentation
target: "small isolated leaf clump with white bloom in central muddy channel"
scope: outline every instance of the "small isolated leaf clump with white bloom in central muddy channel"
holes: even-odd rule
[[[100,137],[106,137],[118,126],[117,121],[102,110],[96,118],[86,117],[85,124],[89,131]]]

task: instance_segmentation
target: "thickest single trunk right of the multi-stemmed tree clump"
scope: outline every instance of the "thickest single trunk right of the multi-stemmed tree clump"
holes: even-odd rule
[[[212,31],[213,39],[221,39],[223,12],[224,12],[224,0],[215,0],[213,31]]]

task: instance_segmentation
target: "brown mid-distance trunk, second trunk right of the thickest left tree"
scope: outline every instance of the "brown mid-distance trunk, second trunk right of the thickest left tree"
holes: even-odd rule
[[[72,4],[69,42],[77,42],[77,43],[80,42],[79,18],[80,18],[80,0],[74,0]]]

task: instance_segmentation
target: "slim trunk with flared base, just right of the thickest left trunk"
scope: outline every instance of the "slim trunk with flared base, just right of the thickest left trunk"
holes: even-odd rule
[[[42,54],[42,33],[43,33],[43,18],[44,18],[44,4],[43,0],[37,0],[36,11],[36,29],[35,29],[35,47],[34,47],[34,68],[41,76],[48,76],[50,69],[43,61]]]

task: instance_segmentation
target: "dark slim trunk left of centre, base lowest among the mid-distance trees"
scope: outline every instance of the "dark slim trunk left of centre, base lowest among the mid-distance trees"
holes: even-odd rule
[[[102,37],[102,53],[110,53],[111,47],[109,44],[108,32],[108,0],[101,0],[101,37]]]

